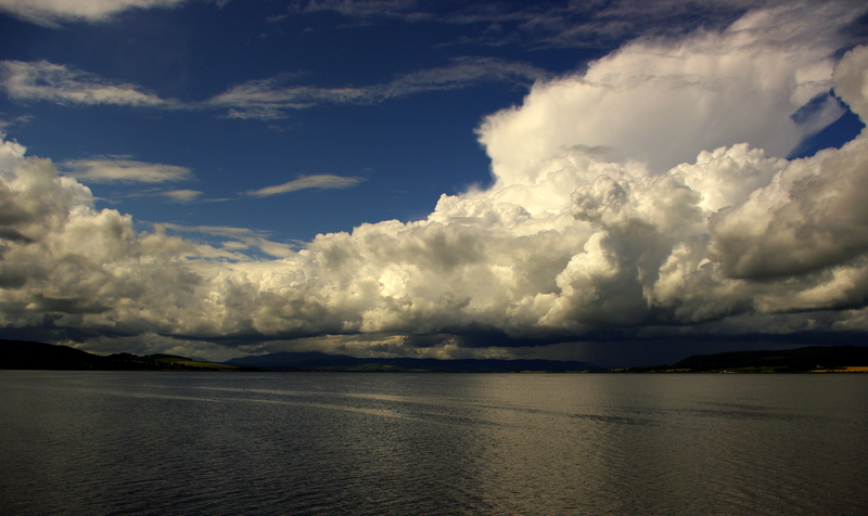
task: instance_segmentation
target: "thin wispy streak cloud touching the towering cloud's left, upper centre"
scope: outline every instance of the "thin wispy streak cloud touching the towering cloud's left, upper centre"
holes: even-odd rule
[[[547,74],[524,63],[490,57],[460,57],[448,66],[406,74],[391,82],[367,87],[318,88],[285,86],[295,76],[281,75],[234,86],[205,104],[230,108],[229,118],[276,119],[284,109],[322,104],[371,104],[427,91],[469,88],[481,82],[532,82]]]

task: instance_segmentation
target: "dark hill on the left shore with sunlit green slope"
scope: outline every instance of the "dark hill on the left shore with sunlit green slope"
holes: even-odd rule
[[[139,357],[116,353],[107,357],[68,346],[27,340],[0,339],[0,369],[53,371],[237,371],[240,367],[214,362],[197,362],[174,354]]]

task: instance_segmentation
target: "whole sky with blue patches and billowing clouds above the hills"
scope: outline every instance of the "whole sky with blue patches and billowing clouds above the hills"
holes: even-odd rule
[[[0,337],[865,344],[863,3],[0,0]]]

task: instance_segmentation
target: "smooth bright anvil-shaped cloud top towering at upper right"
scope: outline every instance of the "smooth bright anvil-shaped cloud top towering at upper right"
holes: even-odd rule
[[[831,7],[828,17],[819,11],[810,22],[801,8],[758,11],[722,33],[636,41],[584,75],[537,83],[524,105],[480,128],[495,177],[503,185],[533,181],[576,144],[607,147],[612,159],[655,173],[744,141],[787,156],[843,114],[829,95],[830,55],[848,17]],[[812,100],[812,116],[796,122],[793,115]]]

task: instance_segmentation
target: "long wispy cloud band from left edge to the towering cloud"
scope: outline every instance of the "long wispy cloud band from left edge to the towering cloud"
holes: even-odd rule
[[[361,87],[322,88],[288,86],[304,74],[280,74],[250,80],[203,102],[163,99],[130,83],[115,81],[48,61],[0,62],[0,90],[20,102],[62,105],[124,105],[158,109],[222,109],[228,118],[270,120],[284,118],[286,109],[318,105],[372,104],[429,91],[469,88],[481,82],[529,86],[549,74],[526,63],[492,57],[457,57],[451,64],[396,77],[390,82]]]

